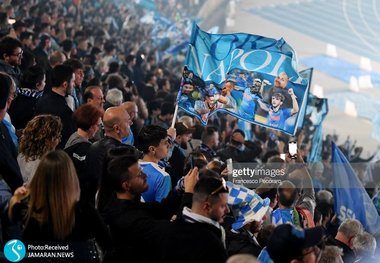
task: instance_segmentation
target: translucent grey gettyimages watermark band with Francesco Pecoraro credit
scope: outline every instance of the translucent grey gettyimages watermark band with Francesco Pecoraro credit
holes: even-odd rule
[[[371,176],[380,170],[380,163],[233,163],[228,179],[234,184],[244,185],[255,189],[264,184],[264,187],[277,187],[284,180],[292,181],[300,188],[334,189],[360,188],[365,182],[371,182]],[[351,184],[348,181],[342,185],[334,184],[334,176],[341,178],[347,171],[357,176],[361,184]],[[310,180],[312,179],[312,183]],[[270,186],[265,186],[270,184]]]

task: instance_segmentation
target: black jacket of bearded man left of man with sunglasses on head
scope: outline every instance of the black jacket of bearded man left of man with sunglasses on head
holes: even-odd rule
[[[191,203],[191,198],[185,193],[182,203]],[[115,245],[112,262],[156,262],[169,219],[180,206],[181,198],[175,193],[161,203],[113,198],[102,211]]]

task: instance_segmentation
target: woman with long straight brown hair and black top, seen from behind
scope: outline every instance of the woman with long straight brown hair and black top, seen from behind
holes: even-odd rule
[[[79,195],[70,157],[61,150],[52,151],[41,159],[30,184],[16,190],[8,215],[12,223],[23,226],[23,242],[68,244],[76,260],[87,262],[96,253],[89,240],[95,238],[104,252],[111,240],[95,208],[79,202]]]

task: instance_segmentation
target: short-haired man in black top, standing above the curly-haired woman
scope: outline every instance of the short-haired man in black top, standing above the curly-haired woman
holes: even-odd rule
[[[74,72],[70,66],[58,65],[53,69],[52,80],[52,90],[44,94],[37,102],[36,115],[52,114],[61,118],[63,129],[58,148],[63,149],[71,134],[76,131],[75,122],[72,119],[73,111],[65,100],[74,87]]]

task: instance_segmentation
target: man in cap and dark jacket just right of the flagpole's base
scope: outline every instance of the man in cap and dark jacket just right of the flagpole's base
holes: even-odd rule
[[[169,159],[170,167],[167,168],[172,185],[176,185],[177,181],[184,176],[187,143],[191,140],[192,133],[195,130],[187,127],[183,122],[177,122],[174,128],[177,135],[174,140],[172,156]]]

